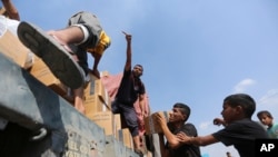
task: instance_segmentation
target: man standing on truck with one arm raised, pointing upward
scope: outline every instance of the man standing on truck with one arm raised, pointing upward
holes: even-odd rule
[[[139,106],[143,116],[145,86],[140,79],[143,68],[141,65],[136,65],[131,70],[131,35],[123,33],[127,40],[127,60],[120,87],[112,102],[112,112],[120,114],[125,118],[135,143],[135,151],[142,155],[143,150],[140,146],[138,118],[133,104],[139,98]]]

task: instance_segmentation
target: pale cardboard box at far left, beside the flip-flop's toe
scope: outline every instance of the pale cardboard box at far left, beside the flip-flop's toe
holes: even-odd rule
[[[0,52],[13,60],[20,67],[28,69],[32,65],[34,56],[10,30],[6,30],[0,37]]]

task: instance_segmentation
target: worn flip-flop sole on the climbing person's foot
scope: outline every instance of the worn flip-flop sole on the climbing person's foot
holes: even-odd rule
[[[18,26],[20,41],[40,57],[51,72],[66,86],[77,89],[85,84],[85,71],[72,56],[42,29],[20,22]]]

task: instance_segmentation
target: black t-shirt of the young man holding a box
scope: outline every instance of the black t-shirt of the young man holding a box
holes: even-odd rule
[[[188,136],[197,137],[197,129],[192,124],[185,124],[179,129],[172,130],[172,134],[177,135],[178,133],[183,131]],[[200,148],[193,145],[182,145],[177,149],[171,149],[166,144],[166,148],[169,149],[170,157],[200,157]]]

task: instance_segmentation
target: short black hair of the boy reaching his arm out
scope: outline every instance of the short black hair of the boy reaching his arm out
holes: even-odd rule
[[[251,118],[254,111],[256,110],[255,100],[247,94],[230,95],[224,99],[224,104],[228,104],[231,107],[242,107],[247,118]]]

